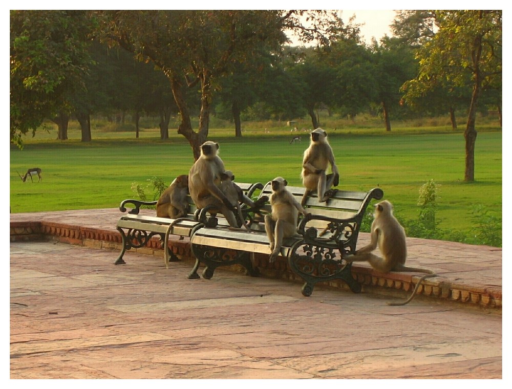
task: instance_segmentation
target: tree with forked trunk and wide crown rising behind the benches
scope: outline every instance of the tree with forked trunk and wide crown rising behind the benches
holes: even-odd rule
[[[106,38],[143,60],[151,59],[170,81],[180,112],[178,133],[185,136],[194,157],[208,136],[212,96],[218,79],[232,64],[252,60],[262,44],[278,50],[285,29],[299,29],[311,40],[323,26],[323,12],[312,16],[313,27],[301,29],[303,11],[102,11]],[[194,131],[183,88],[196,88],[201,102],[199,129]]]

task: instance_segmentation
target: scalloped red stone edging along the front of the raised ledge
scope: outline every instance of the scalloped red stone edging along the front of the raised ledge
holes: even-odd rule
[[[10,222],[10,240],[17,241],[45,241],[53,237],[58,242],[94,248],[121,249],[121,234],[118,231],[101,228],[80,227],[56,222]],[[188,242],[170,240],[170,247],[177,255],[192,258]],[[142,254],[163,256],[162,244],[158,239],[151,239],[144,248],[132,251]],[[276,261],[269,264],[268,256],[256,254],[254,265],[260,269],[262,275],[269,278],[280,278],[303,282],[288,267],[286,261]],[[414,280],[405,273],[379,273],[369,267],[352,266],[352,274],[362,284],[362,290],[370,293],[407,297],[414,289]],[[349,290],[340,279],[326,283],[327,286],[337,289]],[[433,297],[440,300],[450,300],[471,304],[482,308],[502,309],[502,291],[488,288],[475,288],[450,282],[425,279],[417,291],[417,295]]]

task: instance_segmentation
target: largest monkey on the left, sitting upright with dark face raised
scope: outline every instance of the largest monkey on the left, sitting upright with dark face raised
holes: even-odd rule
[[[221,173],[226,169],[218,150],[216,142],[206,141],[201,145],[201,155],[188,172],[188,190],[198,209],[214,206],[212,212],[222,213],[231,227],[237,227],[233,206],[219,188]]]

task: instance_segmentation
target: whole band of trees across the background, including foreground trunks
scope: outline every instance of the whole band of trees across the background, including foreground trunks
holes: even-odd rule
[[[304,21],[306,20],[306,21]],[[171,118],[194,156],[210,115],[290,120],[319,110],[391,120],[466,118],[465,179],[473,181],[478,111],[502,105],[502,11],[397,11],[393,37],[360,38],[329,11],[10,11],[10,141],[50,119],[58,138],[91,115]],[[306,46],[291,47],[285,32]],[[199,118],[193,128],[191,117]]]

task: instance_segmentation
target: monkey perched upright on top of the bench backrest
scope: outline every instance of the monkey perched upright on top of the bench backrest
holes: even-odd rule
[[[325,171],[329,164],[331,174],[326,175]],[[303,206],[309,194],[315,189],[319,202],[326,202],[336,192],[331,187],[338,186],[339,172],[331,145],[327,141],[327,133],[322,128],[316,128],[311,132],[309,147],[304,151],[301,178],[306,188],[301,201]]]

